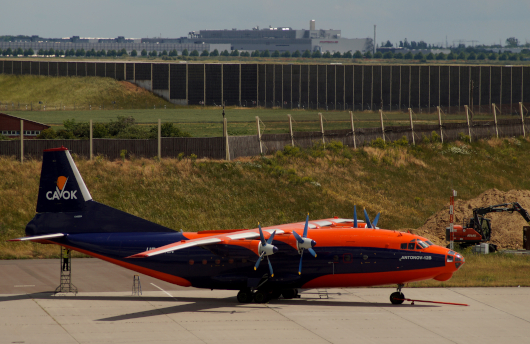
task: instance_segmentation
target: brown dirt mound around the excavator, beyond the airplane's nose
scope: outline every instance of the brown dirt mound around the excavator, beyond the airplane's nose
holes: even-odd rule
[[[510,190],[508,192],[490,189],[480,196],[467,201],[455,201],[455,224],[461,225],[465,218],[473,216],[473,208],[486,207],[501,203],[519,202],[530,212],[530,191]],[[491,219],[491,243],[500,249],[518,249],[523,246],[523,226],[529,224],[517,213],[490,213],[486,218]],[[445,246],[445,228],[449,227],[449,202],[444,210],[429,217],[425,224],[414,231],[415,234],[431,239],[438,245]]]

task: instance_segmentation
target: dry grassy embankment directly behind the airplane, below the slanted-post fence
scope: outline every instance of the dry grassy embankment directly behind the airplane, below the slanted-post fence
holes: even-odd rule
[[[185,231],[297,222],[307,212],[313,219],[349,217],[354,204],[371,216],[383,211],[382,228],[418,228],[447,205],[451,189],[462,200],[491,188],[530,189],[524,177],[530,170],[530,140],[474,142],[469,154],[451,153],[452,145],[288,148],[274,156],[232,162],[75,159],[98,202]],[[58,253],[47,245],[5,242],[23,236],[34,216],[39,172],[37,160],[21,165],[0,158],[0,258]],[[456,284],[443,285],[530,286],[528,258],[473,257],[467,253],[466,265],[444,282]],[[422,283],[427,284],[418,285],[442,285]]]

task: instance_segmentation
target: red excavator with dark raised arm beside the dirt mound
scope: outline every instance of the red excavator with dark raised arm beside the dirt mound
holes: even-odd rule
[[[517,202],[503,203],[497,205],[490,205],[483,208],[473,209],[473,217],[464,219],[464,226],[455,225],[453,232],[453,241],[460,245],[460,247],[468,247],[471,245],[488,242],[491,238],[491,219],[487,219],[484,215],[489,213],[500,213],[514,211],[521,214],[521,216],[530,222],[530,214],[521,207]],[[450,241],[451,233],[449,227],[446,228],[446,241]],[[489,251],[497,251],[497,245],[489,244]]]

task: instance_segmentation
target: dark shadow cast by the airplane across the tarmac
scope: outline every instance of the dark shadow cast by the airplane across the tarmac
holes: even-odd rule
[[[302,294],[304,295],[304,294]],[[265,304],[238,303],[236,297],[227,298],[205,298],[205,297],[166,297],[166,296],[97,296],[97,295],[79,295],[79,296],[54,296],[53,293],[34,293],[21,294],[0,297],[0,302],[16,301],[25,299],[48,299],[48,300],[83,300],[83,301],[138,301],[138,302],[174,302],[179,303],[175,306],[156,308],[149,311],[141,311],[135,313],[127,313],[123,315],[96,319],[95,321],[121,321],[146,318],[158,315],[170,315],[186,312],[216,312],[216,313],[235,313],[245,312],[249,308],[263,308]],[[301,299],[278,299],[271,300],[267,307],[274,308],[282,305],[297,305],[297,306],[311,306],[311,307],[374,307],[374,308],[432,308],[440,307],[435,305],[391,305],[389,303],[371,303],[371,302],[352,302],[352,301],[333,301],[329,299],[319,298],[301,298]],[[221,310],[224,308],[232,308],[230,310]],[[235,310],[234,310],[235,309]]]

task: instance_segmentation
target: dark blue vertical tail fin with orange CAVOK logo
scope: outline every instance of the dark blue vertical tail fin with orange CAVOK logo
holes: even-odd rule
[[[82,211],[92,200],[68,149],[44,151],[37,200],[38,213]]]

